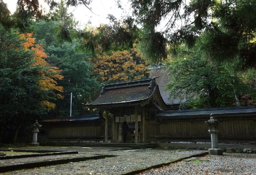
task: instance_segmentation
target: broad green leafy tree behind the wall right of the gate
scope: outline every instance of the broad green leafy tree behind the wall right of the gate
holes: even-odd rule
[[[180,108],[235,106],[235,97],[241,99],[249,92],[248,86],[232,76],[227,66],[212,66],[189,54],[180,55],[168,67],[172,80],[166,89],[170,90],[170,97],[180,99]]]

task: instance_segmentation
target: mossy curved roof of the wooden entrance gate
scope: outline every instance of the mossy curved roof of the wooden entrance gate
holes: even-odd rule
[[[89,108],[115,107],[115,106],[145,106],[156,97],[156,105],[165,110],[164,103],[158,85],[157,77],[140,80],[124,81],[111,84],[104,84],[100,96],[93,102],[86,104]],[[156,107],[156,106],[155,106]]]

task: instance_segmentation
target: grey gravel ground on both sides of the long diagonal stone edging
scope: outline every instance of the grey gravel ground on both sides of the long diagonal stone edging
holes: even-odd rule
[[[6,175],[52,175],[52,174],[125,174],[140,168],[170,162],[180,157],[201,153],[202,150],[173,150],[173,149],[144,149],[144,150],[115,150],[93,152],[93,154],[115,155],[116,157],[88,160],[83,162],[70,162],[47,167],[10,171]],[[80,153],[80,154],[92,154]],[[223,156],[207,155],[198,158],[199,161],[180,161],[161,168],[151,169],[139,174],[145,175],[181,175],[181,174],[255,174],[256,154],[224,153]],[[200,161],[204,160],[204,161]],[[133,173],[134,174],[134,173]]]

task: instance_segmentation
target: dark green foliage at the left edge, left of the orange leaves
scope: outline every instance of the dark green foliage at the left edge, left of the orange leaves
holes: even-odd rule
[[[0,32],[0,113],[33,113],[39,102],[33,98],[39,78],[39,68],[32,66],[34,54],[20,45],[17,34],[5,31],[2,26]]]

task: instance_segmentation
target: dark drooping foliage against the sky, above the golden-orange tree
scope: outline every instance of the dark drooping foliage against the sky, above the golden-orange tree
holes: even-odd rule
[[[123,21],[118,21],[114,16],[109,15],[110,24],[93,27],[82,33],[84,47],[92,51],[93,56],[96,52],[109,52],[129,50],[138,39],[138,28],[134,18],[127,16]]]

